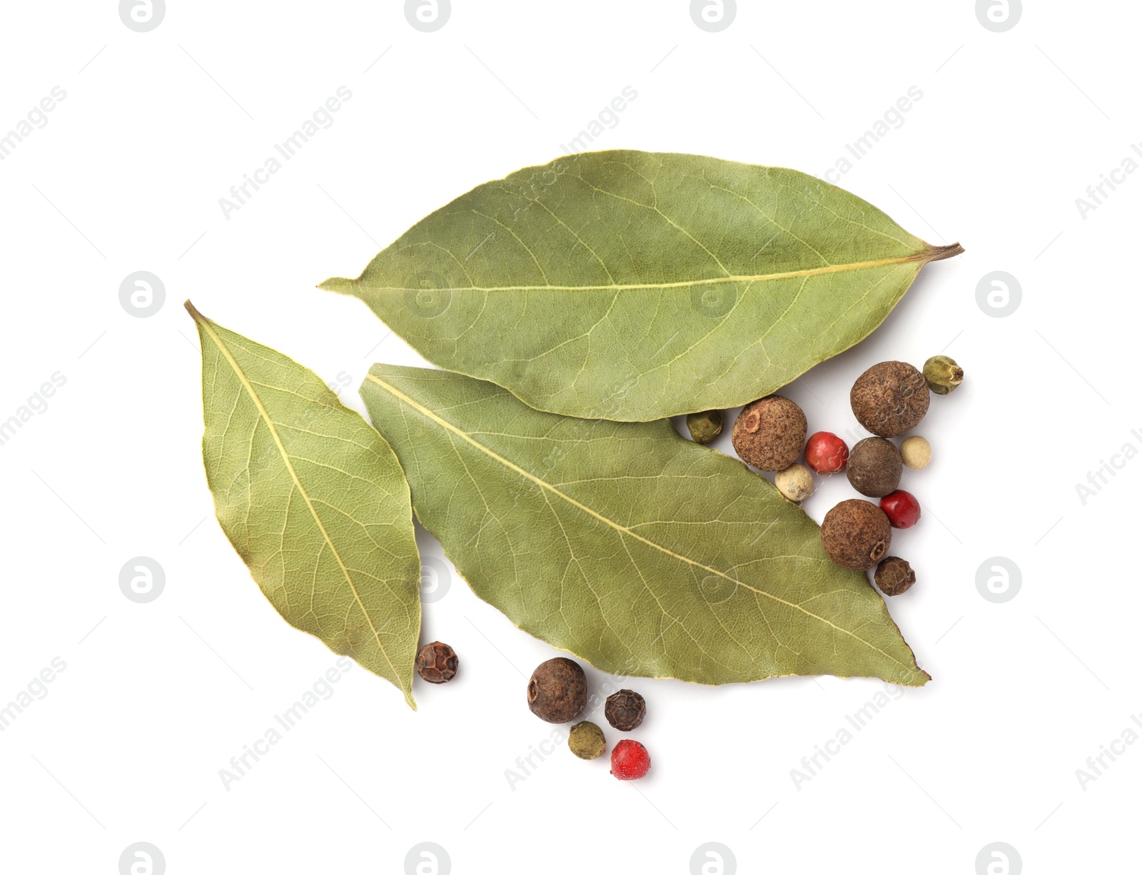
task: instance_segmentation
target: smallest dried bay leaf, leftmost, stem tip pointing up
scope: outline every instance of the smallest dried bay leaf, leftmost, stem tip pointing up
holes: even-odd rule
[[[290,625],[415,709],[420,560],[396,456],[316,374],[186,308],[202,344],[202,458],[223,531]]]

